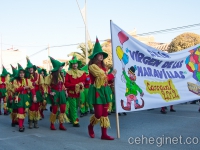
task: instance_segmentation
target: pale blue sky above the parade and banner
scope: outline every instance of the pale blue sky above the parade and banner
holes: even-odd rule
[[[84,0],[78,0],[81,8]],[[92,40],[110,38],[110,20],[125,31],[146,33],[200,23],[199,0],[87,0],[88,30]],[[183,32],[200,34],[200,27],[153,35],[157,42],[170,42]],[[67,45],[85,40],[84,24],[76,0],[2,0],[0,34],[3,49],[26,50],[27,55],[49,44]],[[11,45],[6,45],[11,44]],[[55,58],[67,58],[76,46],[51,48]],[[47,51],[30,59],[34,63],[47,58]]]

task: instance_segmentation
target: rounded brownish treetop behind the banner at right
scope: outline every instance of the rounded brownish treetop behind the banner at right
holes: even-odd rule
[[[195,33],[183,33],[172,40],[169,44],[169,53],[181,51],[188,47],[200,44],[200,35]]]

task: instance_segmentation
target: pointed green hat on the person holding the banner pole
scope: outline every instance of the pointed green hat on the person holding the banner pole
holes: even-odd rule
[[[103,59],[106,59],[108,57],[108,54],[102,50],[98,38],[96,38],[96,43],[94,45],[92,55],[90,55],[88,58],[93,59],[97,54],[103,54]]]

